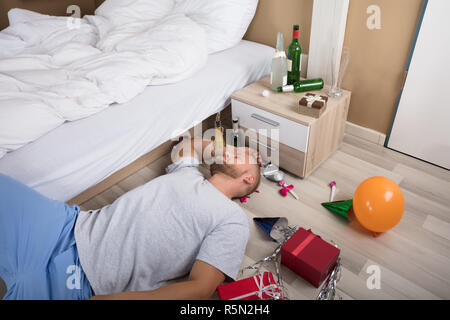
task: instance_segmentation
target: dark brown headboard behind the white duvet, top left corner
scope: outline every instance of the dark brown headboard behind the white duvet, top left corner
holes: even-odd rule
[[[95,0],[1,0],[0,1],[0,30],[6,28],[8,11],[12,8],[29,9],[40,13],[68,16],[67,7],[78,5],[81,15],[92,14],[95,10]]]

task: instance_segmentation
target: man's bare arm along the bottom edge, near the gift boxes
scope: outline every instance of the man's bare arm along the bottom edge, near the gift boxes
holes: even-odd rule
[[[91,300],[202,300],[209,299],[225,280],[218,269],[201,260],[196,260],[189,280],[169,284],[152,291],[121,292],[95,296]]]

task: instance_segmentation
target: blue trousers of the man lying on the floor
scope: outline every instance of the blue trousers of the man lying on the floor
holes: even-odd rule
[[[0,277],[5,300],[84,300],[93,291],[75,243],[78,206],[0,174]]]

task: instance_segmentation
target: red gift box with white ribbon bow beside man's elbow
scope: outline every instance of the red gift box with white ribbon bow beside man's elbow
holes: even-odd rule
[[[271,272],[223,284],[217,287],[217,294],[220,300],[273,300],[281,297]]]

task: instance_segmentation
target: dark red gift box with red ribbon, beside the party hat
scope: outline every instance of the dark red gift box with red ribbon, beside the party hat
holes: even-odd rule
[[[281,247],[281,263],[318,288],[335,267],[339,254],[338,248],[300,228]]]

